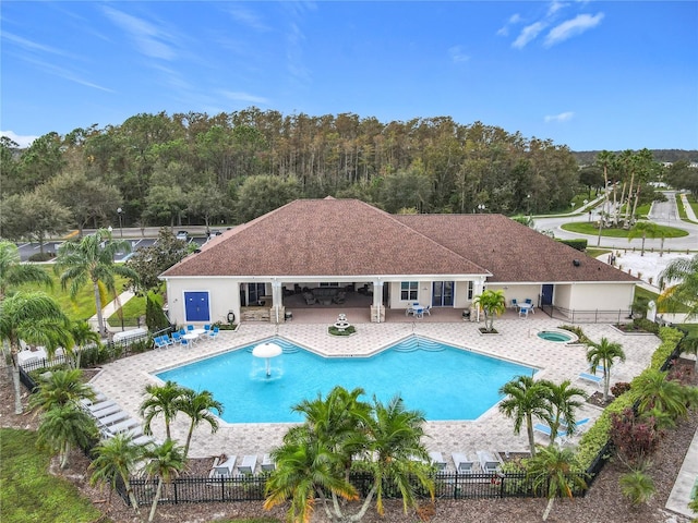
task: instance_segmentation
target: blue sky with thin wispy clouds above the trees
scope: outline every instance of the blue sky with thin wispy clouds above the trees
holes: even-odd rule
[[[698,149],[698,2],[2,2],[0,130],[141,112],[449,115],[573,150]]]

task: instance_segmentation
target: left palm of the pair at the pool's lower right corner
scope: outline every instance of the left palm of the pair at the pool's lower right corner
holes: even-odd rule
[[[547,401],[547,387],[537,382],[530,376],[519,376],[504,384],[500,389],[506,398],[500,403],[500,411],[507,417],[514,418],[514,434],[521,431],[526,421],[528,443],[531,455],[535,455],[535,440],[533,437],[533,416],[551,419],[552,411]]]

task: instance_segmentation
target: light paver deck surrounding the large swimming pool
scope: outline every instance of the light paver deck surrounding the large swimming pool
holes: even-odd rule
[[[534,335],[531,336],[533,328],[550,329],[558,325],[561,321],[542,316],[534,319],[529,317],[527,320],[501,319],[497,321],[501,336],[480,337],[478,336],[479,325],[476,323],[358,324],[356,336],[332,339],[326,336],[327,325],[325,324],[287,324],[278,327],[268,324],[243,324],[238,331],[220,331],[217,339],[202,341],[193,348],[177,346],[148,351],[110,363],[104,366],[92,382],[97,390],[119,403],[129,414],[137,417],[145,386],[158,382],[152,373],[165,366],[177,367],[275,336],[280,336],[301,346],[320,348],[322,352],[334,355],[365,356],[382,346],[417,335],[535,367],[540,369],[537,373],[539,379],[545,377],[556,382],[570,379],[576,387],[585,389],[588,393],[595,392],[599,389],[593,384],[577,379],[579,373],[588,367],[583,345],[551,343]],[[660,343],[657,337],[625,337],[605,324],[581,325],[581,328],[593,341],[605,337],[623,345],[627,356],[626,362],[614,366],[612,382],[629,381],[638,375],[647,367],[651,354]],[[563,351],[564,354],[561,357]],[[167,365],[163,365],[164,358],[167,358]],[[366,393],[370,397],[371,391]],[[241,400],[244,399],[241,398]],[[231,408],[234,409],[234,405]],[[578,417],[590,417],[593,421],[600,413],[600,409],[586,403],[579,410]],[[172,423],[171,430],[174,439],[184,441],[189,428],[188,422],[186,416],[180,415]],[[219,455],[221,452],[261,455],[281,442],[290,425],[292,424],[231,424],[221,426],[213,435],[207,426],[201,426],[194,431],[190,455],[205,458]],[[153,429],[157,438],[165,438],[165,428],[160,418],[154,421]],[[498,412],[497,405],[472,422],[428,422],[425,433],[426,447],[430,450],[441,451],[445,455],[450,455],[452,452],[474,452],[481,449],[509,452],[528,450],[526,430],[518,436],[514,435],[513,422]],[[546,440],[543,438],[541,442],[546,443]]]

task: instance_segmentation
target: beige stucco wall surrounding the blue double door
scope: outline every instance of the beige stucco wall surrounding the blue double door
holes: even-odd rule
[[[210,323],[226,321],[229,311],[240,317],[240,292],[237,281],[230,278],[170,279],[167,282],[167,299],[170,321],[186,323],[184,316],[184,292],[208,292]]]

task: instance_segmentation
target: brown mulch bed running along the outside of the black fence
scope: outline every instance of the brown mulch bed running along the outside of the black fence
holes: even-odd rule
[[[688,362],[693,365],[693,362]],[[679,365],[684,365],[682,362]],[[696,376],[691,377],[696,384]],[[26,403],[26,394],[24,398]],[[33,414],[14,414],[14,399],[12,394],[11,380],[7,368],[0,367],[0,425],[3,427],[14,427],[24,429],[36,429],[37,418]],[[652,500],[640,508],[633,509],[622,496],[618,486],[618,478],[627,472],[627,469],[617,461],[611,461],[601,472],[593,483],[586,497],[574,500],[558,500],[547,519],[553,523],[688,523],[689,519],[678,514],[670,513],[664,509],[666,499],[671,492],[674,481],[681,469],[686,450],[698,427],[698,416],[693,415],[689,419],[679,423],[675,430],[666,434],[660,442],[657,458],[651,467],[651,476],[657,487],[657,494]],[[507,458],[502,453],[503,460],[513,460],[527,455],[526,453],[509,454]],[[1,463],[1,461],[0,461]],[[190,460],[185,474],[206,475],[213,464],[213,457],[206,460]],[[121,501],[117,496],[112,496],[109,502],[107,490],[91,487],[87,475],[88,460],[81,452],[73,452],[71,455],[71,466],[58,474],[72,482],[85,496],[93,500],[105,513],[101,521],[112,521],[115,523],[140,523],[147,520],[149,507],[143,507],[141,514],[136,515],[133,510]],[[51,467],[56,470],[56,467]],[[429,504],[425,502],[424,504]],[[363,519],[364,523],[412,523],[420,521],[432,521],[434,523],[464,523],[469,521],[492,521],[497,523],[520,523],[540,521],[545,509],[545,499],[494,499],[494,500],[442,500],[437,499],[432,507],[416,514],[402,513],[402,507],[398,500],[387,500],[385,502],[386,513],[378,516],[375,509],[371,508]],[[190,503],[190,504],[164,504],[157,510],[156,522],[177,523],[208,523],[220,520],[236,518],[270,518],[279,522],[286,521],[286,510],[288,506],[277,507],[272,511],[262,508],[262,502],[233,502],[233,503]],[[354,513],[357,507],[350,507],[348,513]],[[325,523],[325,516],[321,506],[316,507],[313,522]]]

